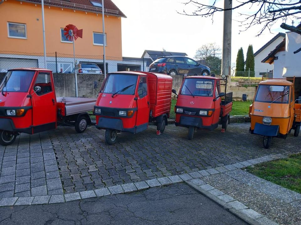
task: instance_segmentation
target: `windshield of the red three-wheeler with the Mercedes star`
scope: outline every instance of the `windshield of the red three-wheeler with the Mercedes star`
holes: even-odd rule
[[[201,78],[185,79],[180,94],[193,96],[213,96],[214,80]]]

